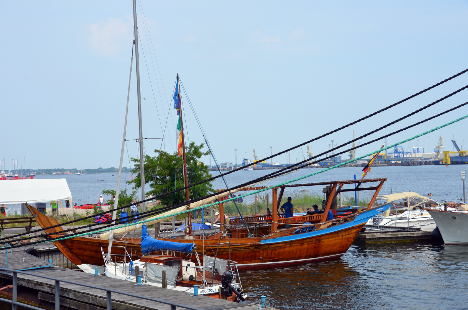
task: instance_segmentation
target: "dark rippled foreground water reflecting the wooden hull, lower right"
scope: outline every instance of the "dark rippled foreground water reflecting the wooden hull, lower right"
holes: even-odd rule
[[[468,246],[353,244],[340,259],[241,271],[250,301],[278,309],[467,309]]]

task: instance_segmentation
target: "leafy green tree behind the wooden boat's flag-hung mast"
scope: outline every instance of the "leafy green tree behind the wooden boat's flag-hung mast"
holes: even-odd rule
[[[185,148],[185,158],[187,160],[187,175],[189,184],[194,184],[199,181],[212,177],[208,171],[208,166],[205,166],[200,159],[204,155],[209,155],[210,152],[202,152],[203,144],[195,145],[195,142],[190,142]],[[166,151],[154,150],[158,155],[151,157],[144,156],[145,161],[145,185],[149,185],[150,190],[146,192],[146,197],[158,195],[161,193],[170,192],[172,190],[184,187],[182,156],[178,156],[177,151],[170,154]],[[133,189],[138,189],[141,184],[140,180],[140,160],[132,158],[134,163],[131,170],[136,177],[128,184],[133,185]],[[211,182],[206,182],[189,189],[190,199],[206,196],[214,192]],[[185,191],[177,192],[175,195],[161,197],[161,205],[170,206],[179,202],[185,201]]]

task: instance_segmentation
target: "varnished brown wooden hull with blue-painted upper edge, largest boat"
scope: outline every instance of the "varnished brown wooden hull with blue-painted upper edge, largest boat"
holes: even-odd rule
[[[381,209],[381,208],[380,208]],[[380,210],[377,210],[380,211]],[[44,215],[42,215],[44,216]],[[369,216],[373,216],[370,214]],[[45,216],[44,216],[45,217]],[[41,216],[37,217],[42,227]],[[283,234],[282,237],[264,236],[250,238],[218,238],[212,239],[172,239],[171,241],[194,243],[196,251],[201,254],[218,258],[231,259],[238,262],[239,269],[264,268],[270,266],[288,266],[314,260],[326,260],[341,257],[351,246],[367,219],[359,216],[360,221],[352,220],[342,225],[317,229],[303,234]],[[44,225],[48,225],[44,222]],[[167,240],[167,239],[164,239]],[[74,264],[104,264],[101,248],[107,251],[108,240],[92,237],[75,237],[54,242],[62,253]],[[124,249],[132,254],[132,260],[141,257],[139,238],[127,238],[112,242],[112,254],[124,254]],[[159,252],[161,253],[161,252]],[[157,253],[154,253],[157,254]],[[185,258],[187,253],[175,253]],[[78,258],[78,260],[77,260]],[[192,260],[196,260],[192,254]],[[75,262],[76,261],[76,262]],[[77,264],[78,263],[78,264]]]

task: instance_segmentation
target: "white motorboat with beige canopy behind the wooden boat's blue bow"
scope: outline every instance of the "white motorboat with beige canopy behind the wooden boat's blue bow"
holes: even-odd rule
[[[374,216],[368,225],[378,225],[397,228],[435,229],[436,223],[431,214],[424,208],[440,209],[441,206],[428,197],[416,192],[401,192],[377,197],[391,202],[391,207],[385,214]]]

